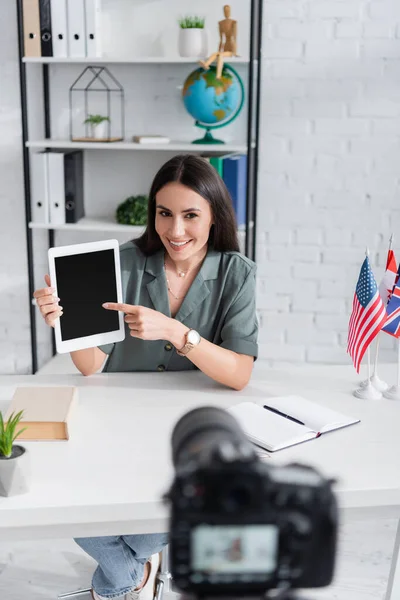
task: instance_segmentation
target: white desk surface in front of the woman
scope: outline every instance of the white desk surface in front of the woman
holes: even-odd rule
[[[381,368],[392,384],[395,365]],[[275,453],[273,464],[303,462],[338,478],[343,508],[391,507],[400,512],[400,402],[352,396],[352,367],[256,363],[241,392],[202,373],[132,373],[0,377],[0,409],[17,385],[76,385],[78,406],[68,442],[24,442],[32,489],[0,497],[4,539],[71,537],[167,529],[161,501],[173,477],[170,436],[199,405],[228,407],[244,400],[294,393],[361,419],[361,423]]]

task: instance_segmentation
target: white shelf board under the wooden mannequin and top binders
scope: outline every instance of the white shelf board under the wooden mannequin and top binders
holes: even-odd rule
[[[196,64],[200,58],[183,58],[181,56],[138,56],[136,58],[110,57],[110,56],[84,56],[77,58],[57,58],[54,56],[24,56],[25,63],[42,64]],[[248,64],[249,59],[245,57],[232,57],[225,61],[228,64]]]

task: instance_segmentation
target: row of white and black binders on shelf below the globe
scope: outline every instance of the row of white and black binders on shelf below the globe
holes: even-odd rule
[[[34,223],[63,225],[84,216],[83,152],[31,154],[31,216]]]

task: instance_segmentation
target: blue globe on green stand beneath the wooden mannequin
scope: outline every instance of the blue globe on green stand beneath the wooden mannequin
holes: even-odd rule
[[[236,119],[243,107],[244,86],[230,65],[224,65],[220,79],[217,79],[215,66],[207,71],[200,67],[186,78],[182,99],[197,127],[207,130],[205,136],[193,144],[223,144],[212,136],[211,130],[225,127]]]

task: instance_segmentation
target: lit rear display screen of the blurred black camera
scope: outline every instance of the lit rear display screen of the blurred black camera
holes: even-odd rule
[[[192,530],[192,570],[269,574],[277,566],[278,538],[276,525],[199,525]]]

